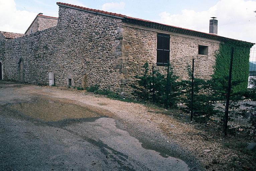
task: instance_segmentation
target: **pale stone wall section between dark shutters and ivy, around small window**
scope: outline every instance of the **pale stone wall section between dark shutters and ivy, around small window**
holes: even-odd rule
[[[170,33],[171,34],[171,33]],[[198,45],[208,46],[208,55],[198,54]],[[192,59],[195,59],[195,76],[210,78],[215,66],[215,52],[219,49],[219,42],[189,38],[181,35],[170,36],[170,64],[173,73],[180,79],[187,79],[187,65],[192,66]]]

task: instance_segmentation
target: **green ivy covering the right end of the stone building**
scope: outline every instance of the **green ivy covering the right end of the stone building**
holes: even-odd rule
[[[232,82],[240,82],[232,87],[233,92],[247,89],[249,76],[250,48],[253,44],[247,42],[222,42],[216,55],[216,65],[213,78],[229,76],[231,48],[234,47]]]

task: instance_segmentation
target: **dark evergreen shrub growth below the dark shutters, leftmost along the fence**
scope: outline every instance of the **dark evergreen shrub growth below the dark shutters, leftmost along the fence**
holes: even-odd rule
[[[177,81],[178,77],[173,74],[172,68],[169,67],[168,82],[166,74],[155,70],[153,85],[153,77],[152,73],[149,73],[148,62],[143,67],[143,75],[136,75],[137,80],[132,85],[134,97],[142,102],[154,103],[160,107],[166,106],[166,104],[167,108],[174,107],[180,98],[180,83]],[[168,93],[168,99],[166,93]]]

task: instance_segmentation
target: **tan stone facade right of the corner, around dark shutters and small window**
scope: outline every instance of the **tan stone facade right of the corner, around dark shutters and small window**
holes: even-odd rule
[[[150,72],[152,65],[160,72],[166,72],[166,67],[156,66],[157,32],[170,34],[170,64],[173,73],[179,79],[187,79],[187,65],[192,64],[195,58],[195,75],[210,78],[215,65],[214,52],[219,49],[218,41],[195,36],[187,36],[163,30],[151,29],[143,26],[124,23],[122,45],[122,87],[125,92],[130,92],[134,84],[135,75],[144,72],[143,64],[149,63]],[[209,55],[198,55],[198,45],[209,46]]]

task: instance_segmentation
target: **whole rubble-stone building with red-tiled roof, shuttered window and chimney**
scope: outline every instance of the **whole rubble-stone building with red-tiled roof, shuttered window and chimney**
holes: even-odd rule
[[[146,61],[159,70],[170,62],[174,72],[179,68],[175,74],[185,79],[184,58],[200,58],[202,66],[196,72],[202,75],[215,64],[209,52],[218,50],[221,42],[239,41],[218,36],[216,21],[210,24],[211,33],[203,33],[67,3],[57,5],[58,18],[39,13],[22,37],[6,39],[0,34],[3,79],[34,84],[49,84],[50,79],[56,86],[99,84],[125,95]]]

